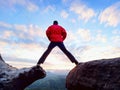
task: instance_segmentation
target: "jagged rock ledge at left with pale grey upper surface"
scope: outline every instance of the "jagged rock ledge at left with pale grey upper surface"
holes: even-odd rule
[[[17,69],[6,64],[0,56],[0,90],[24,90],[45,76],[46,72],[40,66]]]

